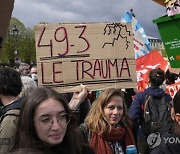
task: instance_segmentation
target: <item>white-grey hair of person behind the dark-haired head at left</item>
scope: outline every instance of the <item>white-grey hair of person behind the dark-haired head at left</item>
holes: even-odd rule
[[[22,76],[21,81],[23,84],[22,91],[20,93],[21,97],[29,95],[37,88],[36,82],[31,77]]]

